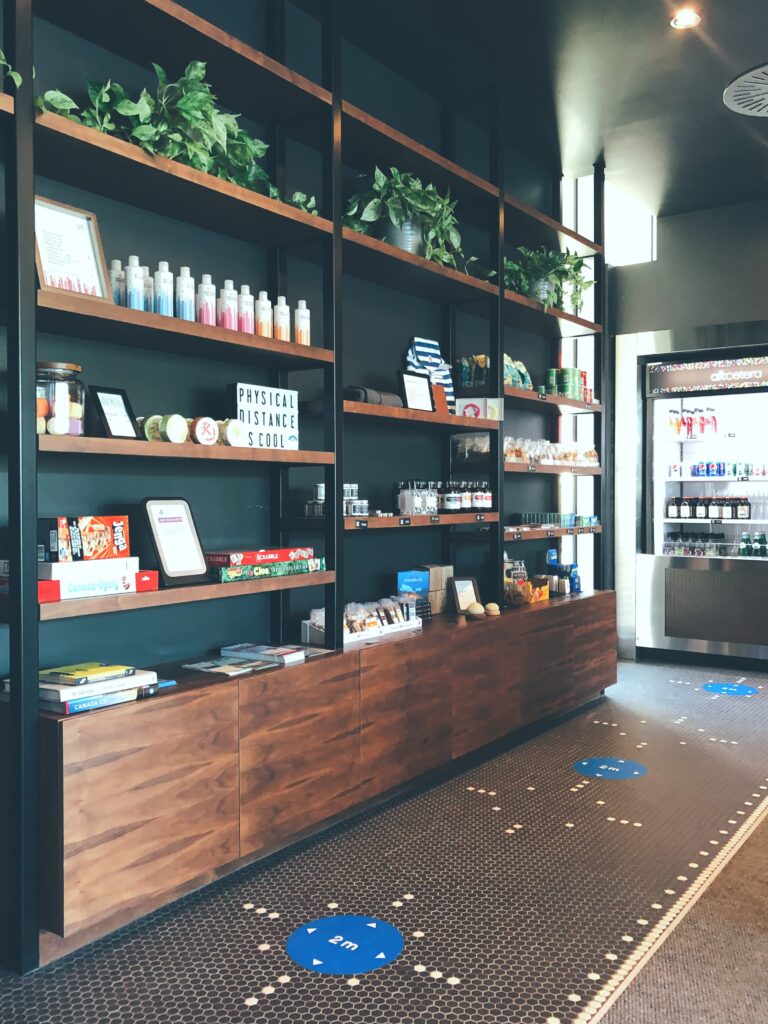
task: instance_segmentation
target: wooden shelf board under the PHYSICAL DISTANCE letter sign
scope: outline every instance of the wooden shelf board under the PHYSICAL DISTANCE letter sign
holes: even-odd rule
[[[101,455],[134,459],[203,459],[211,462],[280,463],[284,466],[331,466],[333,452],[291,452],[283,449],[229,447],[225,444],[172,444],[170,441],[121,437],[73,437],[44,434],[38,451],[56,455]]]

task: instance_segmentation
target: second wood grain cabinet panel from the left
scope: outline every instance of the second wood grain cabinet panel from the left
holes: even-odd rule
[[[358,667],[355,651],[241,680],[244,855],[359,802]]]

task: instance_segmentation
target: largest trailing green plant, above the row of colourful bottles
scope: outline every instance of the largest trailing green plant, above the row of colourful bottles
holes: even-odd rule
[[[269,146],[241,128],[240,115],[219,109],[206,81],[205,61],[193,60],[176,82],[169,82],[159,65],[153,67],[154,95],[142,89],[137,99],[131,99],[118,82],[88,82],[89,104],[82,109],[58,89],[48,89],[35,102],[40,111],[117,135],[153,156],[283,199],[259,163]],[[305,193],[295,191],[284,202],[306,213],[317,212],[314,197]]]

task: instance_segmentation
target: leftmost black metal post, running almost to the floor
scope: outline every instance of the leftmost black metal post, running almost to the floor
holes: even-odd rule
[[[5,161],[10,705],[4,958],[38,966],[38,601],[32,0],[5,0],[5,50],[22,75]]]

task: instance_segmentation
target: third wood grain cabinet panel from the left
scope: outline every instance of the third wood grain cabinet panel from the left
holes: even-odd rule
[[[360,650],[364,799],[451,761],[451,673],[462,658],[440,627]]]

